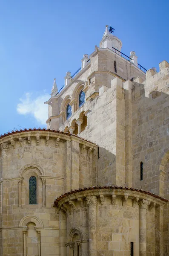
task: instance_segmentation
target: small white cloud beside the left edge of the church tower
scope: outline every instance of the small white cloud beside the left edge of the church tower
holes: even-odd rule
[[[21,115],[31,114],[40,122],[46,124],[48,118],[48,105],[44,104],[51,96],[48,93],[32,98],[32,93],[26,93],[24,98],[20,98],[20,103],[17,104],[17,113]]]

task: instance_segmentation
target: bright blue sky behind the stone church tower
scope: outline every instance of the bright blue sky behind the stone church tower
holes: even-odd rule
[[[169,61],[168,10],[168,0],[0,0],[0,134],[46,127],[53,79],[60,89],[106,24],[122,52],[135,50],[143,67],[158,70]]]

